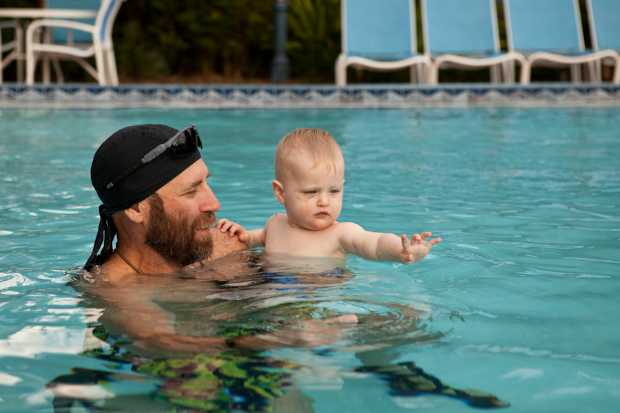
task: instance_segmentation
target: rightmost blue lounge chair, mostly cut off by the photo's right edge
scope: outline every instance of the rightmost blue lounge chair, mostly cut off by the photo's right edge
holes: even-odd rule
[[[586,0],[588,22],[590,23],[590,39],[592,49],[611,49],[620,51],[620,1],[618,0]],[[620,66],[617,59],[603,58],[603,63],[614,65],[612,81],[620,83]],[[597,62],[597,63],[600,63]],[[601,65],[597,64],[597,78],[602,80]]]

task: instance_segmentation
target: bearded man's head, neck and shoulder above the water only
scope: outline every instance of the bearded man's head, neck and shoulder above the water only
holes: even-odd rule
[[[125,127],[103,142],[91,167],[103,205],[87,271],[99,266],[114,279],[172,273],[246,248],[211,228],[220,204],[198,147],[195,125],[180,132],[164,125]]]

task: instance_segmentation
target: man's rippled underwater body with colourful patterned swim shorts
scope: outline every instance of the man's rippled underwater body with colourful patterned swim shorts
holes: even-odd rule
[[[326,270],[325,268],[329,268]],[[231,254],[200,268],[135,275],[72,273],[90,317],[85,357],[107,370],[74,368],[47,384],[54,412],[313,412],[295,385],[312,370],[265,350],[353,352],[391,394],[437,394],[473,407],[507,407],[491,394],[445,385],[413,363],[392,363],[400,347],[436,341],[411,306],[347,296],[355,275],[343,260]]]

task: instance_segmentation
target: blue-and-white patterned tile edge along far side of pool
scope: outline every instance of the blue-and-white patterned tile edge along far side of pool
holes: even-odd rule
[[[412,107],[620,106],[620,85],[611,83],[383,83],[349,85],[178,85],[94,83],[0,85],[0,108],[116,109],[389,109]]]

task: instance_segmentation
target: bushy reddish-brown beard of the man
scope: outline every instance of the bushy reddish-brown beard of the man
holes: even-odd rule
[[[189,222],[185,217],[167,215],[163,200],[156,193],[148,199],[151,219],[146,233],[147,246],[175,266],[201,261],[213,253],[211,233],[198,241],[196,230],[213,226],[217,220],[214,213],[201,213],[194,222]]]

